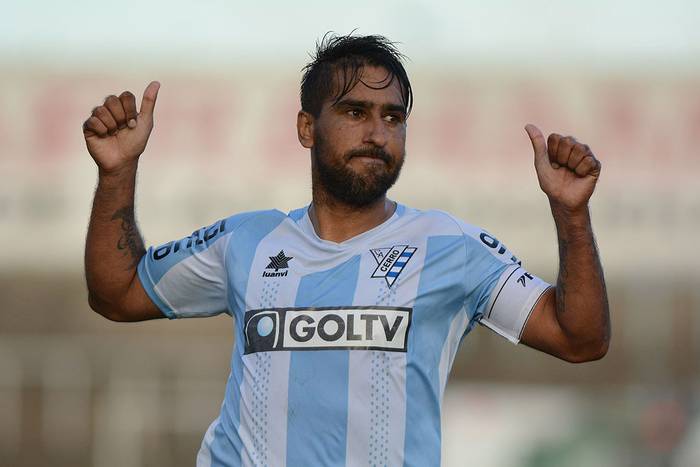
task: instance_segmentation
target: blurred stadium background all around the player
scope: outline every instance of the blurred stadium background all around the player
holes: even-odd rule
[[[137,195],[148,244],[289,210],[309,200],[300,69],[324,32],[354,28],[410,57],[393,197],[489,229],[550,281],[523,125],[603,161],[608,356],[570,365],[475,329],[445,396],[443,465],[700,465],[698,24],[690,0],[3,2],[0,465],[193,465],[223,397],[230,318],[117,324],[88,308],[91,109],[162,83]]]

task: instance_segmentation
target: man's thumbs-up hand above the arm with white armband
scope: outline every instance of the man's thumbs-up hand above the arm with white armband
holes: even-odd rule
[[[535,151],[535,171],[542,191],[569,211],[585,208],[600,176],[600,161],[588,145],[552,133],[547,142],[535,125],[525,125]]]

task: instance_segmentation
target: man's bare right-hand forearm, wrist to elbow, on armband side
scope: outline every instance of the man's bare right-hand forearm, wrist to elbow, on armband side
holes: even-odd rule
[[[590,213],[587,207],[576,212],[551,207],[559,240],[557,319],[577,348],[602,356],[610,341],[610,317]]]

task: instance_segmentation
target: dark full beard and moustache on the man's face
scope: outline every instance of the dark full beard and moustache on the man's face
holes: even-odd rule
[[[398,161],[383,149],[373,146],[353,149],[342,158],[333,157],[327,141],[320,134],[314,135],[314,148],[311,151],[313,182],[342,202],[354,207],[365,207],[386,195],[401,173],[403,157]],[[385,165],[376,171],[360,174],[345,165],[354,155],[369,155],[382,159]],[[378,164],[379,165],[379,164]]]

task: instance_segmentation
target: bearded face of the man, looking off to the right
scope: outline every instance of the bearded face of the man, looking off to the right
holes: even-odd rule
[[[396,182],[406,152],[406,110],[397,79],[365,66],[340,101],[324,102],[314,122],[314,183],[345,204],[377,201]],[[383,88],[383,89],[379,89]]]

